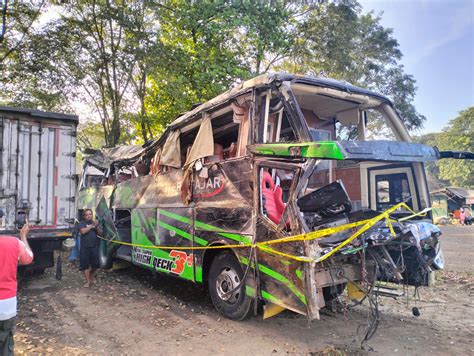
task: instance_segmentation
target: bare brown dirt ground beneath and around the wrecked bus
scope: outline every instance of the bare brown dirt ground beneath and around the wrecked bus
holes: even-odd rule
[[[474,354],[474,227],[444,227],[446,270],[434,287],[406,297],[380,300],[375,336],[360,348],[368,307],[349,315],[321,315],[309,323],[283,312],[268,320],[243,322],[220,317],[199,286],[137,269],[101,271],[83,288],[77,268],[64,263],[23,280],[15,334],[21,354],[309,354],[461,355]],[[358,331],[359,329],[359,331]]]

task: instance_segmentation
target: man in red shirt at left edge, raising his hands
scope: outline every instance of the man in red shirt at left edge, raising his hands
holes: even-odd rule
[[[3,211],[0,210],[0,219]],[[16,272],[18,265],[33,261],[28,245],[28,221],[20,230],[20,239],[0,235],[0,355],[13,355],[13,332],[16,319]]]

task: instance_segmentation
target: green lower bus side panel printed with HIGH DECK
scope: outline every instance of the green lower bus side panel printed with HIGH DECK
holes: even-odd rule
[[[194,281],[191,208],[132,210],[132,263]],[[164,248],[161,248],[164,247]]]

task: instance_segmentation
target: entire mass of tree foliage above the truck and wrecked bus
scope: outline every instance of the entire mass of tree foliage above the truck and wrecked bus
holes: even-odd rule
[[[392,30],[356,0],[9,4],[17,9],[7,16],[14,31],[0,41],[8,52],[0,100],[55,111],[88,106],[106,146],[145,142],[236,80],[279,69],[323,72],[386,94],[409,129],[425,120]],[[33,30],[51,9],[56,18]]]

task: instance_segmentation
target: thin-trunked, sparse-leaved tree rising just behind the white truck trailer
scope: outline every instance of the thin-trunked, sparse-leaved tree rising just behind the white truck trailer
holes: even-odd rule
[[[142,98],[143,88],[135,84],[147,75],[143,74],[147,48],[143,39],[149,34],[144,29],[144,4],[138,0],[62,4],[59,18],[38,30],[12,58],[14,102],[38,102],[44,92],[57,93],[68,102],[81,101],[99,116],[107,146],[126,140],[122,116],[126,106],[135,104],[134,94]],[[156,36],[150,40],[156,41]],[[24,90],[25,83],[32,88]]]

